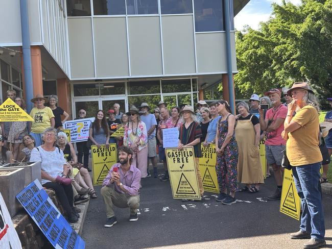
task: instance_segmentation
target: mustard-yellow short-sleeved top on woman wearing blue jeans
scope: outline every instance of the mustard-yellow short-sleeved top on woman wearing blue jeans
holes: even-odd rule
[[[292,166],[303,166],[323,160],[318,146],[318,112],[312,106],[305,106],[292,118],[300,128],[288,133],[286,144],[288,160]]]

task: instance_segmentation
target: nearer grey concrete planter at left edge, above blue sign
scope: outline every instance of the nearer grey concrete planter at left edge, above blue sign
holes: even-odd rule
[[[23,168],[0,168],[0,172],[10,172],[0,175],[0,192],[4,197],[10,217],[13,217],[22,206],[16,200],[16,194],[25,188],[25,172]]]

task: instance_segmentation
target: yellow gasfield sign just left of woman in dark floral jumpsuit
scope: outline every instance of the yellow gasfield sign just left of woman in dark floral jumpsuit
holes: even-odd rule
[[[203,187],[205,191],[219,193],[219,185],[216,172],[216,144],[208,147],[201,145],[202,157],[199,159],[199,170],[203,176]]]

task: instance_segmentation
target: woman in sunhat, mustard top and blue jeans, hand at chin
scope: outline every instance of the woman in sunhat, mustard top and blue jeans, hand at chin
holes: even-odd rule
[[[319,191],[322,155],[319,150],[319,103],[305,82],[296,82],[287,91],[293,101],[288,104],[282,137],[287,140],[287,158],[292,165],[293,179],[301,198],[300,230],[292,239],[310,239],[303,248],[324,246],[325,225],[322,197]],[[293,113],[296,111],[295,116]]]

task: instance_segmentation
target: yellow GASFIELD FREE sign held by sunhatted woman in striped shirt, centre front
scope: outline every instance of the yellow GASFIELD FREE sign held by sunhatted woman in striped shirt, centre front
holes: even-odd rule
[[[194,148],[186,147],[165,150],[174,199],[200,200],[201,195],[195,167]]]

